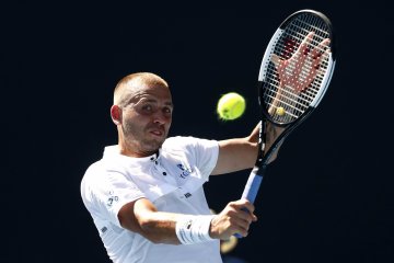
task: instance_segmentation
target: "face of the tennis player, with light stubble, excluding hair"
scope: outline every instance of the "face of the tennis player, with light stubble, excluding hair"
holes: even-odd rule
[[[142,84],[126,91],[120,141],[126,155],[146,157],[158,151],[169,135],[173,104],[169,88]]]

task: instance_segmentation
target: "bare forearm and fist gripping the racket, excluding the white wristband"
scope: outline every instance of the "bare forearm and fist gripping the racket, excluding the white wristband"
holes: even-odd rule
[[[241,208],[246,207],[251,213]],[[230,202],[225,208],[213,217],[209,235],[215,239],[228,239],[234,233],[247,236],[252,221],[257,220],[253,214],[254,206],[242,199]],[[140,198],[124,205],[118,218],[123,228],[137,232],[154,243],[179,244],[175,227],[182,214],[158,211],[147,198]]]

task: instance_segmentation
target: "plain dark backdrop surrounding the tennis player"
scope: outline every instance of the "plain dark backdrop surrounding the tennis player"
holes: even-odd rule
[[[389,1],[32,3],[1,9],[1,262],[109,262],[79,192],[103,147],[116,144],[116,82],[162,76],[175,103],[171,135],[224,139],[256,125],[266,45],[300,9],[331,18],[337,66],[320,108],[269,167],[258,222],[232,255],[248,262],[393,262],[392,59]],[[219,122],[221,94],[247,101]],[[209,205],[241,196],[250,171],[216,176]]]

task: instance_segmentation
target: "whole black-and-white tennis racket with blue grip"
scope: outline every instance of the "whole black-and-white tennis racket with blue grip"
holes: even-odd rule
[[[258,75],[262,111],[258,156],[242,198],[255,202],[270,157],[320,104],[334,67],[333,30],[327,16],[301,10],[280,24],[264,54]],[[281,133],[266,149],[268,122],[281,127]]]

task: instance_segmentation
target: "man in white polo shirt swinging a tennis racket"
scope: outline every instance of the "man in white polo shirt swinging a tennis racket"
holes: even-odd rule
[[[211,215],[202,184],[210,174],[254,165],[258,126],[245,138],[221,141],[167,138],[172,112],[169,85],[157,75],[134,73],[115,88],[118,145],[105,148],[81,183],[114,262],[221,262],[219,240],[246,237],[257,220],[246,199]]]

